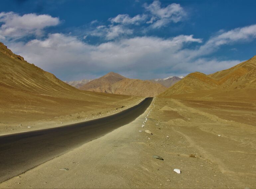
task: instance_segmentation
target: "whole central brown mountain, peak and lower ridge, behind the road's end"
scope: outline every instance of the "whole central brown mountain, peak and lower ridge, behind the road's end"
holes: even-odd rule
[[[84,84],[79,89],[120,95],[156,96],[166,87],[156,82],[128,79],[117,73],[108,74]]]

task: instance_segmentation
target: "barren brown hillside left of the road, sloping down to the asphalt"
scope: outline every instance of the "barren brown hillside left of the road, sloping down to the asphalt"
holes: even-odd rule
[[[31,123],[60,116],[69,119],[78,112],[88,116],[90,112],[114,110],[139,99],[78,90],[12,53],[3,43],[0,43],[0,68],[0,133],[9,132],[11,124],[16,124],[10,131],[15,132],[25,121]]]

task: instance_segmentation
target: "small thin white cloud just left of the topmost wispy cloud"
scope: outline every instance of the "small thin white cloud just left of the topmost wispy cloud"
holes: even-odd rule
[[[141,22],[145,22],[147,19],[147,15],[136,15],[135,17],[130,17],[128,14],[120,14],[117,15],[115,18],[110,18],[109,21],[111,23],[118,23],[118,24],[135,24],[139,25]]]

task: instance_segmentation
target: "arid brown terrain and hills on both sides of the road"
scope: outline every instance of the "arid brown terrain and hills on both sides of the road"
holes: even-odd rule
[[[150,90],[156,84],[126,78],[95,87],[129,95],[81,91],[3,44],[0,55],[1,135],[96,119],[139,103],[139,95],[157,95]],[[253,57],[211,75],[189,74],[133,122],[0,188],[255,188],[255,63]]]

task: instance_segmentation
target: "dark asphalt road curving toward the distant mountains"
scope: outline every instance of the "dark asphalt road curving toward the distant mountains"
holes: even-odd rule
[[[91,121],[0,136],[0,182],[132,122],[145,112],[152,99]]]

